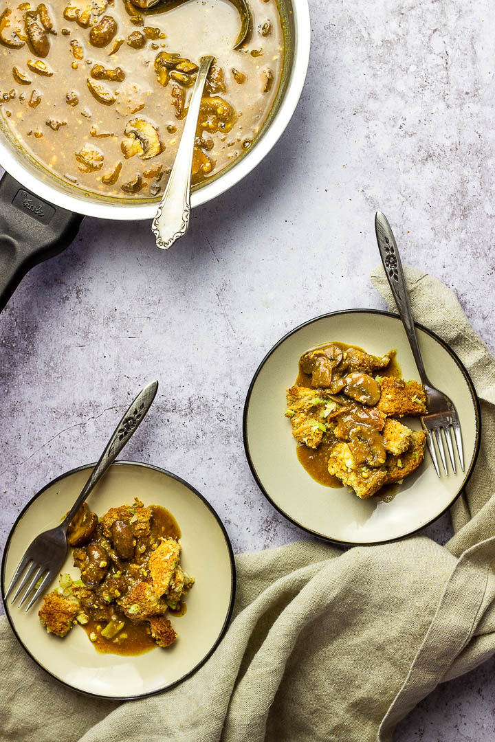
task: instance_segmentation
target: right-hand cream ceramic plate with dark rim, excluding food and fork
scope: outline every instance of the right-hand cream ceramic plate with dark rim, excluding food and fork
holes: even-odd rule
[[[391,502],[361,500],[347,487],[315,482],[298,462],[285,391],[298,375],[304,351],[330,341],[358,345],[373,355],[397,350],[404,378],[419,378],[401,321],[388,312],[356,309],[318,317],[289,332],[261,363],[244,408],[244,444],[252,473],[266,497],[289,520],[316,536],[346,544],[374,544],[410,535],[452,505],[468,481],[479,449],[479,404],[459,358],[425,327],[419,347],[432,383],[456,405],[464,442],[465,473],[436,476],[429,453]],[[411,427],[420,429],[419,421]]]

